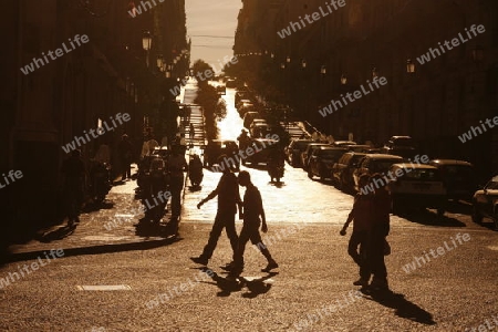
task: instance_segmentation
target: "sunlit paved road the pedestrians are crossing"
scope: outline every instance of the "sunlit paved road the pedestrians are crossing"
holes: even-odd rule
[[[39,258],[0,267],[0,331],[469,331],[486,321],[498,325],[498,232],[490,222],[473,224],[468,205],[453,205],[444,218],[435,211],[393,216],[386,263],[394,293],[357,293],[347,237],[339,236],[353,198],[310,180],[301,169],[287,166],[281,186],[270,184],[264,169],[248,169],[264,199],[270,230],[263,240],[280,263],[278,273],[260,272],[264,259],[248,245],[243,276],[252,282],[226,279],[219,268],[231,258],[225,235],[209,262],[217,277],[188,259],[200,253],[216,212],[215,200],[200,210],[195,205],[216,186],[219,173],[206,170],[201,190],[187,188],[181,238],[158,246],[132,231],[133,224],[103,228],[112,215],[137,205],[129,181],[113,189],[115,209],[85,215],[86,228],[74,235],[24,246],[44,248],[32,251]],[[64,250],[61,257],[49,251],[73,248],[85,237],[77,236],[83,229],[94,232],[85,235],[95,237],[87,238],[91,250]],[[121,236],[138,245],[95,246]],[[481,328],[494,330],[498,326]]]

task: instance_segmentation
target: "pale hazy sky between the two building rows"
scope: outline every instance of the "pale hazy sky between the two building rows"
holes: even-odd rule
[[[191,37],[191,62],[203,59],[215,71],[221,70],[224,56],[234,55],[234,37],[240,0],[185,0],[187,34]],[[209,38],[197,35],[229,37]],[[218,61],[219,60],[219,61]]]

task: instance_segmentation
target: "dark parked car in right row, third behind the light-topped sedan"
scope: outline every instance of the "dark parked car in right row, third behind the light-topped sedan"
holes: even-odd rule
[[[346,153],[345,147],[319,146],[310,156],[308,177],[319,176],[321,180],[332,178],[332,166]]]

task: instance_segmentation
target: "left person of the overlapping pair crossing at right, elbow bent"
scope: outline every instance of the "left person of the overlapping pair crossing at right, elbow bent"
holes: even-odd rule
[[[363,174],[359,179],[359,187],[363,188],[366,186],[369,178],[369,175]],[[363,195],[362,193],[360,191],[354,197],[353,209],[347,216],[347,220],[342,227],[340,235],[344,236],[347,226],[353,221],[353,232],[347,245],[347,253],[360,268],[360,279],[354,281],[353,284],[366,287],[371,277],[367,249],[372,228],[373,197],[372,195]]]

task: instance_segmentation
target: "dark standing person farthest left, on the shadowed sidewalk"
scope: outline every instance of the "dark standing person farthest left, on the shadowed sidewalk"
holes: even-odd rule
[[[85,164],[81,159],[81,152],[74,149],[61,167],[64,174],[64,199],[69,217],[68,225],[73,226],[80,221],[80,209],[83,204],[85,184]]]

